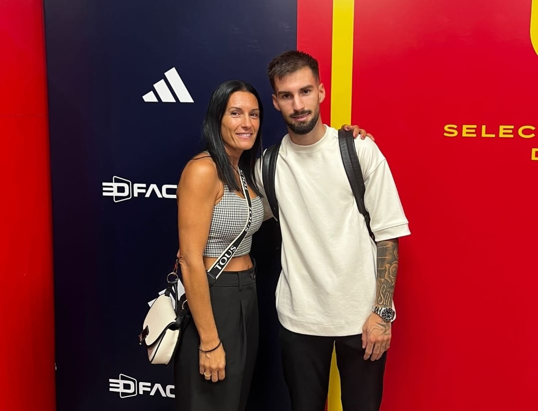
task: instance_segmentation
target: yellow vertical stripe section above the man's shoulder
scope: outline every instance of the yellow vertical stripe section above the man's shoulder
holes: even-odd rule
[[[337,129],[351,123],[353,3],[332,2],[331,125]]]

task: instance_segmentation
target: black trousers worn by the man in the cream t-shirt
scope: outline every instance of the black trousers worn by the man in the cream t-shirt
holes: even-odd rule
[[[344,411],[378,411],[387,353],[364,360],[362,335],[319,337],[280,326],[282,369],[293,411],[323,411],[329,391],[332,347],[340,374]]]

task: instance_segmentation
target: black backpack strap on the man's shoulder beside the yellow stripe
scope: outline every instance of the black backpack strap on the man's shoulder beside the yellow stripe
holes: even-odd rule
[[[370,233],[372,240],[376,241],[372,230],[370,229],[370,214],[364,206],[364,193],[366,188],[364,187],[363,172],[360,169],[359,158],[355,151],[355,143],[353,143],[353,133],[351,131],[338,130],[338,143],[340,145],[340,154],[342,154],[342,161],[344,163],[345,174],[348,175],[349,184],[355,201],[357,202],[357,208],[360,214],[364,216],[366,227]]]

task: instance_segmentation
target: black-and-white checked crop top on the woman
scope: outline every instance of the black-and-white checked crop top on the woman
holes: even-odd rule
[[[258,231],[264,219],[264,206],[260,197],[256,196],[251,200],[252,223],[233,257],[245,256],[250,252],[252,235]],[[245,229],[248,211],[249,204],[246,199],[230,191],[228,186],[224,185],[222,199],[213,208],[209,237],[206,249],[203,251],[204,257],[220,257],[231,242]]]

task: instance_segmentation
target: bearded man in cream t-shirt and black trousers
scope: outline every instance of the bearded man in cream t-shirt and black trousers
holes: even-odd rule
[[[268,76],[273,105],[288,129],[275,174],[282,232],[276,304],[292,408],[324,409],[334,345],[344,411],[378,410],[394,318],[398,237],[409,235],[408,222],[383,154],[371,139],[356,139],[376,243],[370,238],[337,131],[320,117],[325,89],[317,61],[288,51],[271,61]]]

